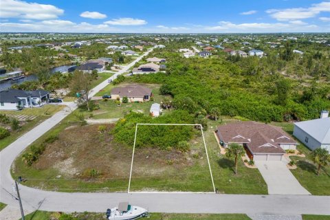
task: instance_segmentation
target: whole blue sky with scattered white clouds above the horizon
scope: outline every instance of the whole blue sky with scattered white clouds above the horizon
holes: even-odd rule
[[[1,0],[1,32],[330,32],[320,0]]]

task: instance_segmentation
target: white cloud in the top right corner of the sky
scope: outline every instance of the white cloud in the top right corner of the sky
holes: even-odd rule
[[[278,21],[309,19],[316,17],[320,12],[330,12],[330,1],[312,4],[309,8],[271,9],[266,12],[270,14],[270,17]]]

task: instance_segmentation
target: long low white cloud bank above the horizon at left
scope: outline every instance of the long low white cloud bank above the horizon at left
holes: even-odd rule
[[[34,23],[0,23],[3,32],[120,32],[107,24],[92,25],[65,20],[47,20]]]

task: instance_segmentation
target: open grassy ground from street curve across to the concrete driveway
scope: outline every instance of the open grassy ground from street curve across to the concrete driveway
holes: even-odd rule
[[[214,184],[218,192],[267,194],[267,185],[259,170],[246,168],[240,161],[239,174],[234,175],[232,159],[227,159],[219,153],[219,145],[214,138],[215,124],[219,122],[210,121],[205,135]],[[107,126],[109,131],[111,125]],[[23,184],[47,190],[127,190],[131,146],[117,144],[108,132],[100,133],[98,125],[80,126],[74,113],[34,144],[41,144],[50,135],[58,135],[59,139],[48,144],[45,152],[32,166],[26,166],[22,157],[18,157],[12,169],[13,177],[22,176],[26,179]],[[197,148],[203,144],[201,138],[192,142]],[[134,168],[138,169],[133,170],[131,190],[212,190],[203,152],[196,151],[195,148],[188,153],[157,151],[151,148],[135,151]],[[157,177],[155,174],[158,173],[163,176]],[[146,175],[154,176],[146,179]],[[173,176],[176,181],[173,181]],[[185,182],[186,187],[178,184],[178,181]]]

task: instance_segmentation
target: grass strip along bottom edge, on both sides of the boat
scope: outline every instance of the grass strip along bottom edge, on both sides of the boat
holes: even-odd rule
[[[105,212],[105,211],[104,211]],[[49,220],[49,219],[58,219],[59,217],[70,216],[67,219],[71,220],[96,220],[104,219],[105,213],[73,213],[73,214],[60,214],[58,212],[43,212],[36,211],[32,212],[25,216],[26,220]],[[168,214],[168,213],[151,213],[150,217],[142,219],[151,219],[151,220],[250,220],[246,214]]]

